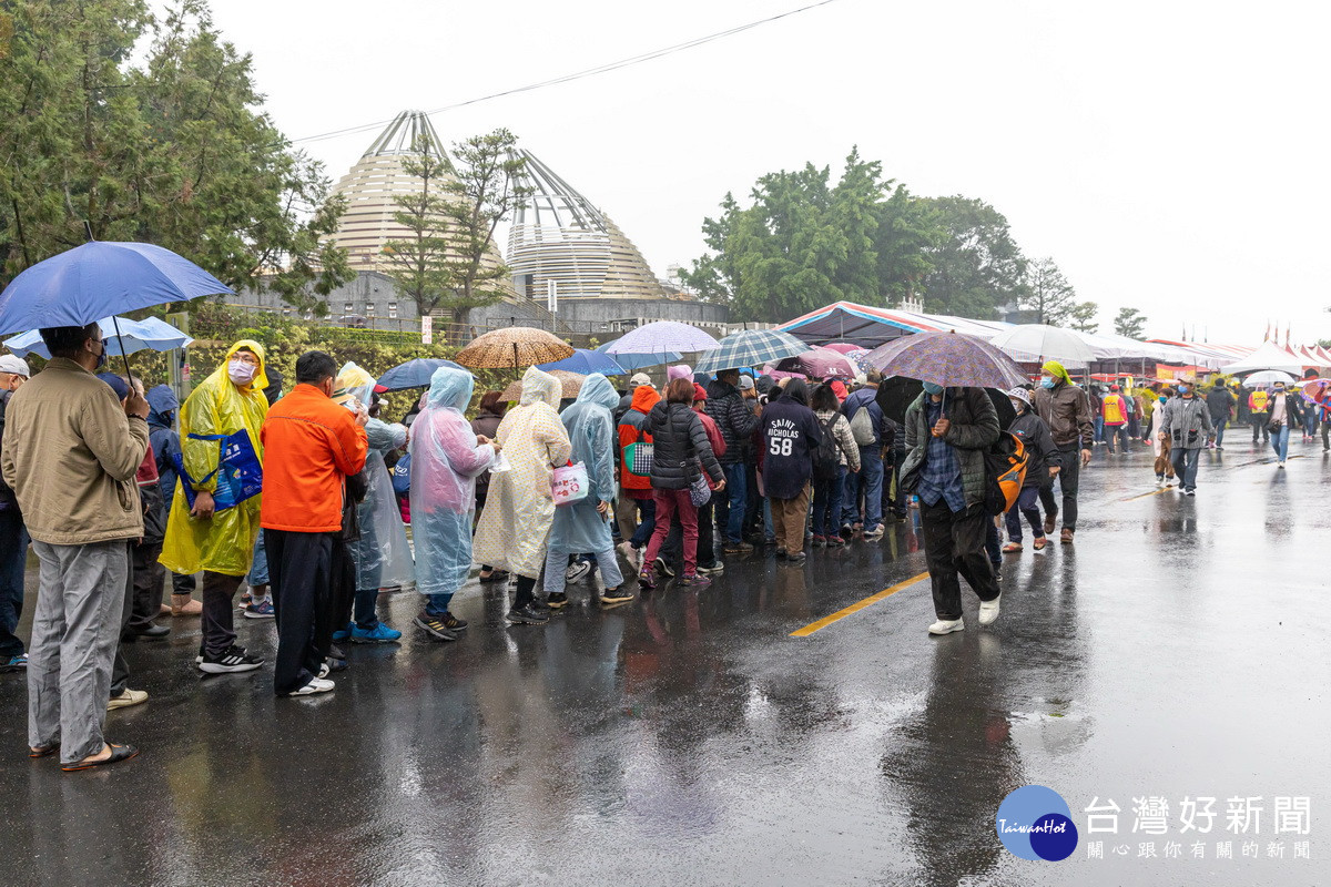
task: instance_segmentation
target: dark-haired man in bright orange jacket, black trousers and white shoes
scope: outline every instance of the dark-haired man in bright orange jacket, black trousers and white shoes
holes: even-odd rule
[[[333,539],[342,532],[346,476],[365,467],[369,452],[369,415],[363,406],[351,412],[331,400],[335,378],[331,356],[302,354],[295,387],[268,411],[260,435],[265,453],[260,523],[277,610],[273,689],[278,696],[333,689],[333,681],[323,678],[317,632],[331,637]]]

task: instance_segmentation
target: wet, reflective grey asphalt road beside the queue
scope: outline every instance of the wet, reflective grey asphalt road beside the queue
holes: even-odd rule
[[[269,669],[201,680],[197,621],[168,620],[169,640],[129,652],[152,698],[108,715],[142,749],[129,763],[29,762],[23,681],[0,678],[0,880],[1326,883],[1331,461],[1320,444],[1291,453],[1276,471],[1231,432],[1183,499],[1153,495],[1145,451],[1098,448],[1077,544],[1010,556],[997,625],[978,629],[965,590],[968,628],[942,638],[925,634],[928,582],[789,637],[920,574],[909,524],[801,569],[735,559],[709,589],[615,609],[572,586],[547,628],[506,628],[499,589],[470,585],[458,644],[410,628],[414,594],[385,597],[403,644],[353,646],[337,692],[305,699],[274,699]],[[237,621],[272,653],[272,622]],[[997,807],[1028,783],[1083,830],[1065,862],[998,843]],[[1142,795],[1174,814],[1219,799],[1205,859],[1175,821],[1138,858]],[[1258,859],[1225,834],[1236,795],[1264,798]],[[1310,835],[1272,834],[1276,795],[1311,798]],[[1097,797],[1122,809],[1117,836],[1085,834]]]

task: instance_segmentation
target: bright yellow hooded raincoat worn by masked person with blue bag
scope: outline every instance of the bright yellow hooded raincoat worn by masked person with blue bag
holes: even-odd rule
[[[258,358],[258,375],[244,388],[226,375],[226,364],[241,348],[249,348]],[[180,444],[185,471],[198,481],[217,468],[220,444],[216,440],[193,440],[189,435],[232,435],[240,430],[249,432],[250,443],[260,463],[264,461],[264,443],[258,432],[268,415],[264,388],[264,346],[241,339],[230,347],[222,364],[194,388],[180,410]],[[177,480],[182,484],[184,479]],[[196,489],[213,492],[217,481],[196,483]],[[158,559],[166,569],[190,576],[201,569],[225,576],[244,576],[254,557],[258,537],[258,508],[261,496],[252,496],[234,508],[213,515],[212,520],[189,516],[189,503],[177,487],[166,519],[166,540]]]

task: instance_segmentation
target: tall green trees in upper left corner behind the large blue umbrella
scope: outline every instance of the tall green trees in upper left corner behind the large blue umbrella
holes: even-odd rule
[[[248,55],[206,4],[23,0],[0,57],[0,282],[87,239],[148,241],[295,307],[351,279],[341,205],[258,110]],[[136,44],[150,36],[134,64]]]

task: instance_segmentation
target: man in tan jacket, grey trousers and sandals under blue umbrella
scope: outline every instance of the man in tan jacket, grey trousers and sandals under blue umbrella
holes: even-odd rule
[[[97,379],[106,346],[96,323],[41,330],[47,368],[9,399],[0,469],[41,561],[28,650],[29,757],[61,770],[126,761],[106,742],[106,699],[129,582],[129,544],[144,535],[134,477],[148,453],[148,402]]]

